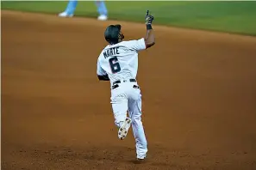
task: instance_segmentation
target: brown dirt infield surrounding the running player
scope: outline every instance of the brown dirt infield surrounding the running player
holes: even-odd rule
[[[2,11],[2,169],[256,169],[256,38],[154,27],[138,82],[148,158],[117,138],[103,31],[121,23]]]

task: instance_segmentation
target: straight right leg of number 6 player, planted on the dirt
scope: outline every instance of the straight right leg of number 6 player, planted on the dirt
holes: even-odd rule
[[[133,89],[134,97],[128,100],[128,113],[132,118],[132,128],[136,142],[136,153],[138,159],[144,159],[147,155],[147,139],[141,122],[141,94],[140,89]]]

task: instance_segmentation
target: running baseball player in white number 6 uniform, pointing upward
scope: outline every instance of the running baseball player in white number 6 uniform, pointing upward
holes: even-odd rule
[[[141,94],[136,81],[138,70],[138,52],[154,45],[152,28],[153,15],[147,11],[145,38],[123,41],[121,25],[110,25],[104,36],[109,42],[97,59],[97,76],[100,81],[109,81],[111,104],[122,140],[132,125],[136,143],[137,159],[142,161],[147,156],[147,139],[141,122]],[[127,114],[128,112],[128,114]]]

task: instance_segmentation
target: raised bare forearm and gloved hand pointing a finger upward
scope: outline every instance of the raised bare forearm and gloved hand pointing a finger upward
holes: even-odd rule
[[[147,10],[147,15],[146,15],[147,33],[145,37],[146,48],[149,48],[155,44],[152,21],[153,21],[153,15],[149,15]]]

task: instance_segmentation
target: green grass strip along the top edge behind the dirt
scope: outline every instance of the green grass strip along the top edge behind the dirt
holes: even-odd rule
[[[2,9],[41,12],[57,15],[67,2],[2,2]],[[175,27],[214,30],[256,35],[256,2],[188,2],[107,1],[109,18],[123,21],[144,21],[149,9],[153,23]],[[78,2],[75,15],[96,17],[94,1]]]

